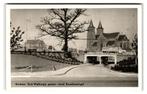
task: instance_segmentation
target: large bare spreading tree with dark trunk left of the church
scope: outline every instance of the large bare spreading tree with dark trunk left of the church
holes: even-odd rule
[[[68,52],[68,41],[76,39],[76,33],[86,31],[86,22],[80,22],[77,18],[83,15],[86,9],[50,9],[49,16],[44,17],[43,24],[37,27],[47,35],[55,36],[64,42],[62,50]]]

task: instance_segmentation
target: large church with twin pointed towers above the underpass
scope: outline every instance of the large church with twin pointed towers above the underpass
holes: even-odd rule
[[[119,50],[129,51],[130,47],[129,39],[125,34],[120,34],[120,32],[105,33],[101,21],[99,21],[97,28],[93,25],[92,20],[90,21],[87,30],[88,52],[102,52],[108,49],[117,52]]]

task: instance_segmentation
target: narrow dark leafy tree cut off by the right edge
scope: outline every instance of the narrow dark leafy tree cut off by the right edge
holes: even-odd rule
[[[136,64],[138,62],[138,38],[137,38],[137,34],[135,34],[134,39],[132,41],[132,48],[135,51],[135,56],[136,56]]]

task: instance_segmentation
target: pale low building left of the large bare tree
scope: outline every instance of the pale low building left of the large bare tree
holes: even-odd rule
[[[46,44],[42,40],[27,40],[25,42],[26,51],[44,51],[46,50]]]

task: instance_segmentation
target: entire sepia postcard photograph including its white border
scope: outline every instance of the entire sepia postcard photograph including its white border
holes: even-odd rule
[[[8,84],[139,87],[140,7],[8,4]]]

